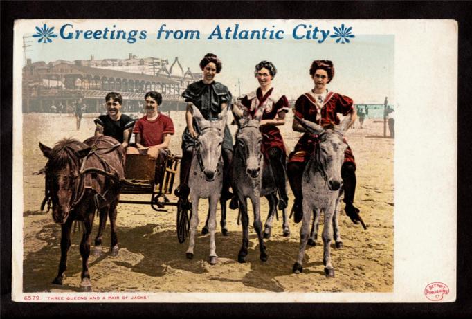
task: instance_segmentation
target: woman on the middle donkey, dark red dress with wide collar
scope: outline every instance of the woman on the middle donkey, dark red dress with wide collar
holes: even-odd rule
[[[272,80],[277,69],[272,62],[262,61],[255,66],[254,75],[260,84],[257,90],[239,98],[239,109],[242,116],[253,118],[258,109],[262,110],[260,131],[262,133],[262,154],[271,163],[280,200],[279,209],[287,207],[287,180],[285,163],[287,152],[278,125],[285,124],[285,114],[289,111],[289,100],[272,87]]]

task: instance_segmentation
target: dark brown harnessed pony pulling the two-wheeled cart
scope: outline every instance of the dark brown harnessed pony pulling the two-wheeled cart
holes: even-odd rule
[[[111,224],[111,255],[118,254],[116,236],[116,206],[120,194],[120,180],[125,178],[125,151],[114,138],[100,136],[81,143],[72,138],[60,140],[53,149],[39,143],[48,161],[46,174],[46,202],[53,210],[53,220],[61,225],[61,258],[53,284],[62,284],[66,271],[67,252],[71,247],[73,221],[82,221],[80,241],[82,273],[80,288],[91,291],[89,274],[90,235],[96,210],[100,210],[100,228],[95,240],[99,248],[107,215]],[[99,248],[100,250],[100,248]]]

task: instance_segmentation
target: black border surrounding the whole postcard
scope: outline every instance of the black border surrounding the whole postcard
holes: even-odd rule
[[[471,108],[471,13],[469,2],[458,1],[1,1],[1,313],[3,318],[162,316],[285,318],[350,316],[428,316],[472,314],[471,167],[469,121]],[[11,301],[12,226],[12,43],[15,19],[454,19],[459,25],[459,113],[457,171],[457,301],[448,304],[24,304]],[[455,61],[451,61],[453,65]],[[435,66],[431,66],[435,67]],[[408,75],[406,75],[408,76]],[[412,92],[414,93],[414,92]],[[442,92],[431,92],[440,95]],[[425,116],[443,116],[434,111]],[[446,118],[444,120],[447,120]],[[438,128],[437,134],[441,134]],[[431,138],[435,138],[431,136]],[[440,145],[438,145],[440,152]],[[433,174],[433,172],[432,172]],[[448,190],[445,190],[446,192]],[[414,212],[412,212],[414,213]],[[421,227],[421,225],[419,225]],[[415,239],[412,235],[411,240]],[[257,300],[253,300],[257,302]]]

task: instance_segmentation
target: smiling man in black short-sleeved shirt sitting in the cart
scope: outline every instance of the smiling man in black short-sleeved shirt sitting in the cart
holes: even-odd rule
[[[120,93],[110,92],[105,97],[105,106],[107,114],[101,115],[95,119],[97,125],[95,135],[111,136],[118,140],[123,147],[128,147],[131,129],[134,126],[134,120],[121,113],[123,98]]]

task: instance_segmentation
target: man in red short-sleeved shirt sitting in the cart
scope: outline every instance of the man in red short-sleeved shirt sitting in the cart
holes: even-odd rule
[[[161,167],[169,154],[170,138],[174,135],[174,122],[158,111],[162,95],[149,91],[144,95],[146,115],[136,121],[133,133],[136,147],[129,146],[127,154],[148,154],[156,158],[156,167]]]

